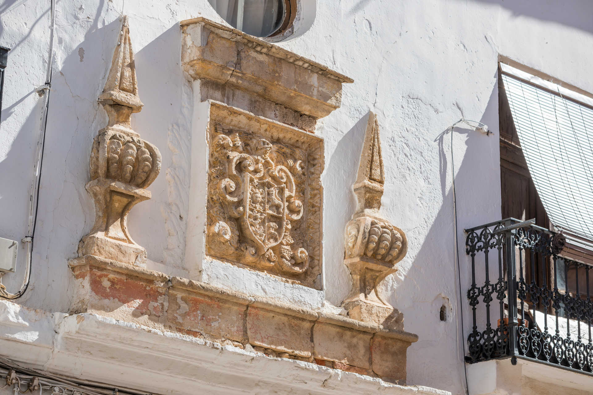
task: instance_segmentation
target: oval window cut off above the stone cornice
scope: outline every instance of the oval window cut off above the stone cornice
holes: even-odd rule
[[[296,0],[208,0],[232,27],[257,37],[270,37],[288,27],[291,1]]]

